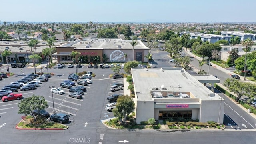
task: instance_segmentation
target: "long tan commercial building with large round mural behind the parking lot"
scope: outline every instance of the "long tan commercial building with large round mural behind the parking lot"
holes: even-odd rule
[[[144,56],[148,54],[149,48],[140,40],[135,40],[137,44],[130,44],[132,40],[122,39],[96,39],[96,38],[79,38],[79,40],[67,42],[60,46],[56,46],[56,53],[60,63],[73,61],[72,51],[80,52],[77,57],[82,57],[81,63],[92,63],[94,58],[98,58],[98,62],[125,62],[137,60],[139,62],[148,62]],[[96,61],[97,62],[97,61]],[[97,63],[98,63],[97,62]]]

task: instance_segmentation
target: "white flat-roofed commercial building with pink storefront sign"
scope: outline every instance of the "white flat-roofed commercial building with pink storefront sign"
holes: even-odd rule
[[[198,119],[223,123],[224,99],[204,84],[219,83],[212,75],[190,75],[182,68],[132,68],[136,122],[149,118]]]

